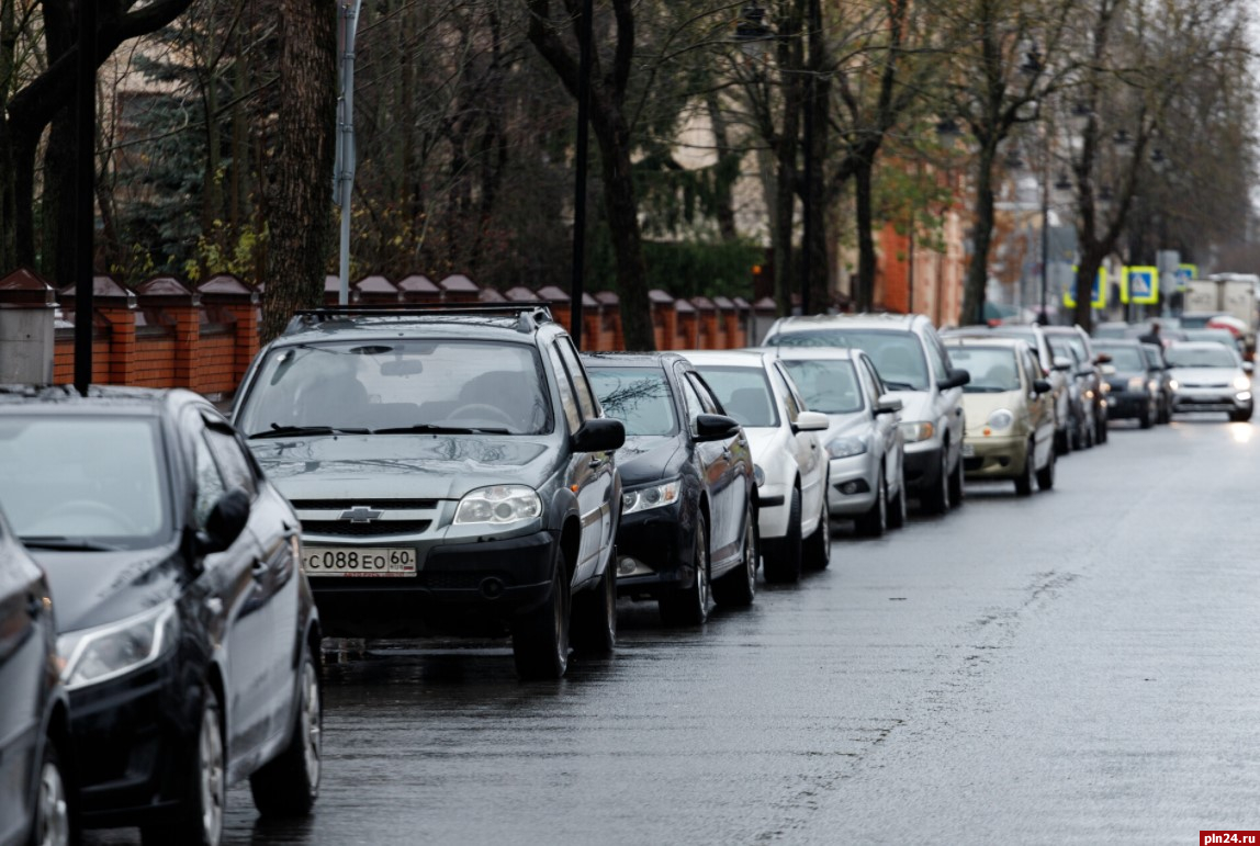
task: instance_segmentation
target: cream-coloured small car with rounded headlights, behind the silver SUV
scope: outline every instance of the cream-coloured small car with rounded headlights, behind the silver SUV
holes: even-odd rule
[[[1016,494],[1055,486],[1055,407],[1037,355],[1022,340],[953,337],[945,341],[955,366],[971,381],[963,389],[968,478],[1009,478]]]

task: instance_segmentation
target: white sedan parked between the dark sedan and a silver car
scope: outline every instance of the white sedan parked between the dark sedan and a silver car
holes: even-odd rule
[[[743,426],[757,477],[765,574],[795,582],[803,561],[830,561],[827,451],[819,438],[830,420],[810,412],[784,366],[750,350],[683,352]]]

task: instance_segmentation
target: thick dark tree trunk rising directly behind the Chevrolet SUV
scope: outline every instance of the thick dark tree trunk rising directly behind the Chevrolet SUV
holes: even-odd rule
[[[296,308],[319,306],[333,244],[333,132],[336,123],[336,6],[282,0],[280,15],[280,150],[271,204],[261,341],[271,341]]]

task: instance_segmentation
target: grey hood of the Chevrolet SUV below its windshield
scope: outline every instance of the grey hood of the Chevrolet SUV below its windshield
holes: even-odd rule
[[[542,438],[444,434],[320,436],[249,447],[290,500],[457,500],[478,487],[541,487],[561,451]]]

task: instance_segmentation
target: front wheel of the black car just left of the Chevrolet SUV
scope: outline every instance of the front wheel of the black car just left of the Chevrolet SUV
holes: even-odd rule
[[[223,811],[227,803],[227,750],[220,714],[219,696],[213,687],[207,686],[200,728],[190,755],[188,796],[173,822],[140,830],[145,846],[218,846],[223,837]]]

